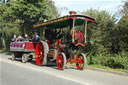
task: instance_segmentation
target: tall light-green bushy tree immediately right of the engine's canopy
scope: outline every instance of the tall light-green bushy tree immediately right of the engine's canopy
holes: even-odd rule
[[[109,53],[111,49],[110,31],[114,29],[116,18],[115,15],[107,11],[99,11],[97,9],[89,9],[82,12],[84,15],[89,15],[96,18],[96,22],[88,26],[88,40],[92,45],[93,54]]]

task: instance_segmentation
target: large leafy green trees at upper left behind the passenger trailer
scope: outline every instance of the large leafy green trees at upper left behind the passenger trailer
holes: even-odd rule
[[[25,32],[28,33],[30,30],[34,30],[32,28],[33,24],[56,17],[54,13],[57,15],[54,2],[51,0],[7,1],[8,3],[0,4],[0,35],[2,35],[0,42],[3,42],[3,47],[7,47],[8,36],[11,37],[14,33],[24,35]]]

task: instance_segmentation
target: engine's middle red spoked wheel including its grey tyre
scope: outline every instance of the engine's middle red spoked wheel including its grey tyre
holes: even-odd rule
[[[57,56],[56,63],[57,63],[58,69],[60,69],[60,70],[64,70],[65,69],[65,66],[66,66],[66,56],[65,56],[64,53],[61,53],[60,55]]]

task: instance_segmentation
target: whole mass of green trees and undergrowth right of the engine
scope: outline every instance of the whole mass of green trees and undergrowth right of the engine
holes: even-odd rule
[[[128,69],[128,16],[126,12],[118,23],[116,15],[107,11],[89,9],[82,14],[96,18],[96,23],[88,25],[89,42],[84,48],[84,52],[89,50],[87,55],[89,64]]]

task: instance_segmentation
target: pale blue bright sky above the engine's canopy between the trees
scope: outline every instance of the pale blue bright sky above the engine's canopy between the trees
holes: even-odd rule
[[[90,8],[107,10],[114,14],[126,0],[53,0],[58,8],[67,7],[68,11],[84,11]],[[63,13],[63,12],[62,12]],[[68,15],[63,13],[62,15]]]

